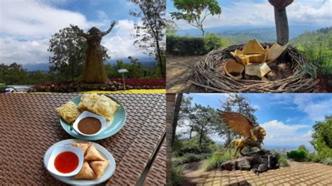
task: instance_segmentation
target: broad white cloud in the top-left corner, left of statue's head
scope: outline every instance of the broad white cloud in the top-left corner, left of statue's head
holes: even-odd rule
[[[70,24],[83,29],[88,22],[81,13],[54,8],[38,1],[0,1],[1,34],[40,39],[54,34]]]

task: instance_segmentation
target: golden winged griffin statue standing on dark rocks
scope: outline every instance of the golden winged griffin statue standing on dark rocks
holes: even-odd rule
[[[235,139],[228,145],[228,149],[231,145],[235,145],[234,157],[237,152],[244,155],[241,152],[244,147],[258,147],[259,150],[265,151],[263,147],[261,147],[266,135],[264,128],[255,125],[249,118],[237,112],[223,112],[219,110],[219,114],[223,122],[225,122],[231,130],[242,135],[242,138]]]

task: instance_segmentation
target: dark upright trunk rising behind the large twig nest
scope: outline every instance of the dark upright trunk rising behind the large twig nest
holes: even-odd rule
[[[277,43],[284,46],[289,42],[289,27],[286,8],[275,7],[275,27],[277,29]]]

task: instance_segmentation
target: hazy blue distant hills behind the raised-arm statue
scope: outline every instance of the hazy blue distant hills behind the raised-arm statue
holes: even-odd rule
[[[111,65],[114,65],[114,64],[116,64],[117,60],[123,60],[123,62],[130,62],[130,60],[128,60],[128,58],[118,58],[115,60],[111,59],[111,60],[109,60],[108,63]],[[157,65],[154,58],[151,58],[151,57],[139,58],[139,62],[141,62],[141,64],[144,65],[144,67],[148,67],[148,68],[153,68]],[[37,70],[40,70],[41,72],[48,72],[50,66],[51,66],[51,64],[49,62],[37,63],[37,64],[28,63],[28,64],[23,65],[23,69],[27,69],[27,72],[34,72]]]

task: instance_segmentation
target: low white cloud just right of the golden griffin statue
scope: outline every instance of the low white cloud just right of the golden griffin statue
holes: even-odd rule
[[[266,136],[264,139],[264,145],[273,146],[298,146],[306,145],[310,146],[311,126],[307,125],[288,125],[284,124],[282,121],[272,120],[268,121],[261,126],[266,131]],[[305,130],[307,132],[299,133],[299,130]]]

